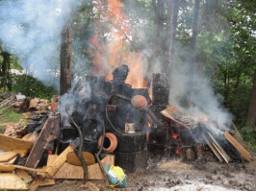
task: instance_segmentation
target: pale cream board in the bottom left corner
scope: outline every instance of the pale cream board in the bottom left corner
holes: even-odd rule
[[[13,173],[0,174],[1,190],[28,190],[27,184]]]

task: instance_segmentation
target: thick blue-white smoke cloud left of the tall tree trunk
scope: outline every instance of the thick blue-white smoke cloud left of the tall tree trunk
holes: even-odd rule
[[[71,0],[0,2],[0,40],[4,50],[16,56],[28,74],[56,88],[64,15],[71,4]]]

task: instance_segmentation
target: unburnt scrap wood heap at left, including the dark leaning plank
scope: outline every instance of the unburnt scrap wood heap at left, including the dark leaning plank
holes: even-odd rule
[[[76,151],[79,142],[70,143],[57,155],[60,114],[32,112],[28,118],[34,121],[23,130],[21,138],[0,134],[0,189],[37,190],[38,186],[55,184],[55,179],[84,180],[85,169]],[[104,156],[98,163],[90,153],[83,152],[82,156],[87,164],[87,180],[106,180],[100,166],[113,165],[114,156]]]

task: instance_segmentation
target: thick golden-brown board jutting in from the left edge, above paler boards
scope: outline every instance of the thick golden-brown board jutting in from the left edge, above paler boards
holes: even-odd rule
[[[33,143],[22,139],[13,138],[0,134],[0,149],[8,152],[14,152],[23,157],[32,148]]]

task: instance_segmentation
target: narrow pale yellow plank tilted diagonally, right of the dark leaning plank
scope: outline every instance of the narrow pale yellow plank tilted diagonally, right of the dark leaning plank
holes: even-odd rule
[[[73,148],[71,146],[65,148],[63,153],[58,156],[53,163],[47,166],[46,172],[49,174],[49,176],[53,176],[58,171],[58,169],[60,169],[60,167],[64,164],[66,160],[66,155],[69,152],[73,152]]]

